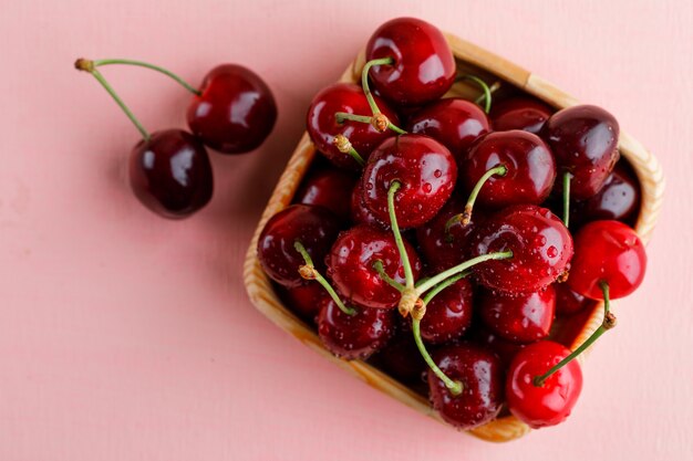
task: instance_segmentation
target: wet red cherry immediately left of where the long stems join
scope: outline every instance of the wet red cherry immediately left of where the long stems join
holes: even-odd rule
[[[414,248],[404,241],[414,279],[421,261]],[[404,266],[392,232],[359,224],[342,232],[330,251],[328,274],[337,290],[350,302],[366,307],[391,308],[397,305],[400,292],[383,281],[374,269],[381,261],[385,273],[404,284]]]

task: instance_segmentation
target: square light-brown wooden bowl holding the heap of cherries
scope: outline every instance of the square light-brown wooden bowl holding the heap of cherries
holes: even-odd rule
[[[478,75],[487,82],[499,82],[499,92],[524,91],[557,109],[578,104],[572,96],[558,90],[544,78],[535,75],[523,67],[500,57],[488,51],[480,49],[469,42],[461,40],[454,35],[446,34],[446,39],[453,49],[453,53],[457,60],[457,67],[461,74],[472,73]],[[359,82],[361,69],[364,64],[364,53],[361,52],[356,60],[344,72],[341,82]],[[463,96],[466,98],[475,98],[479,94],[478,88],[472,84],[456,83],[448,93],[448,96]],[[656,158],[650,154],[640,143],[621,130],[619,139],[619,149],[621,156],[625,158],[634,168],[638,179],[640,180],[642,200],[641,209],[635,224],[635,230],[647,242],[656,222],[656,218],[662,203],[662,193],[664,190],[664,178],[662,169]],[[256,307],[271,319],[277,326],[289,332],[292,336],[301,340],[310,348],[332,360],[334,364],[350,370],[356,377],[363,379],[369,385],[380,389],[384,394],[400,400],[424,415],[433,417],[437,420],[442,419],[433,410],[428,400],[416,394],[408,387],[400,384],[395,379],[360,360],[346,362],[334,357],[325,349],[317,333],[299,319],[291,311],[283,306],[279,300],[272,285],[262,272],[260,263],[256,254],[256,247],[260,231],[267,220],[278,211],[287,207],[306,175],[313,157],[316,149],[308,136],[303,134],[299,142],[289,164],[283,174],[279,178],[279,182],[272,192],[272,196],[265,208],[265,212],[258,222],[258,227],[250,242],[248,254],[244,266],[244,279],[250,301]],[[570,339],[572,348],[580,345],[597,327],[603,318],[603,308],[601,305],[596,306],[592,312],[582,315],[578,325],[572,325],[570,329]],[[577,327],[576,327],[577,326]],[[560,326],[559,326],[560,328]],[[560,334],[561,332],[559,332]],[[563,332],[565,333],[565,332]],[[583,359],[585,355],[579,359]],[[476,437],[490,441],[507,441],[524,436],[530,429],[517,418],[507,416],[487,423],[480,428],[470,431]]]

